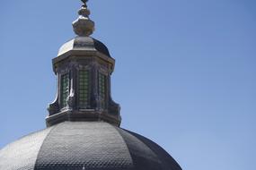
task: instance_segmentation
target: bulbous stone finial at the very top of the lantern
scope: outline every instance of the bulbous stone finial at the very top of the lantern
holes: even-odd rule
[[[90,20],[90,10],[87,8],[88,0],[81,0],[84,4],[78,11],[79,17],[73,22],[73,30],[75,34],[81,37],[88,37],[93,34],[94,22]]]

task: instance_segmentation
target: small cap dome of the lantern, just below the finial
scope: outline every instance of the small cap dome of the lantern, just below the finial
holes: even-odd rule
[[[58,51],[58,55],[64,55],[68,51],[97,51],[110,56],[108,47],[101,41],[91,37],[75,37],[67,41]]]

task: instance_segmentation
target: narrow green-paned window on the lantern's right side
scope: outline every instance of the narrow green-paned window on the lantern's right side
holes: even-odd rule
[[[101,98],[102,107],[106,106],[106,81],[107,76],[99,72],[98,74],[98,89],[99,89],[99,97]]]

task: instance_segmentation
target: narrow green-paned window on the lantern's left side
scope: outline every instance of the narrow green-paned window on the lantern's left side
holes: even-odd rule
[[[69,94],[69,74],[61,75],[61,83],[60,83],[60,106],[66,107],[66,100]]]

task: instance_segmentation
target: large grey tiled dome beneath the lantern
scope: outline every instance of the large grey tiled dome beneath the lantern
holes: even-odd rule
[[[0,150],[4,170],[181,170],[153,141],[103,122],[64,122]]]

